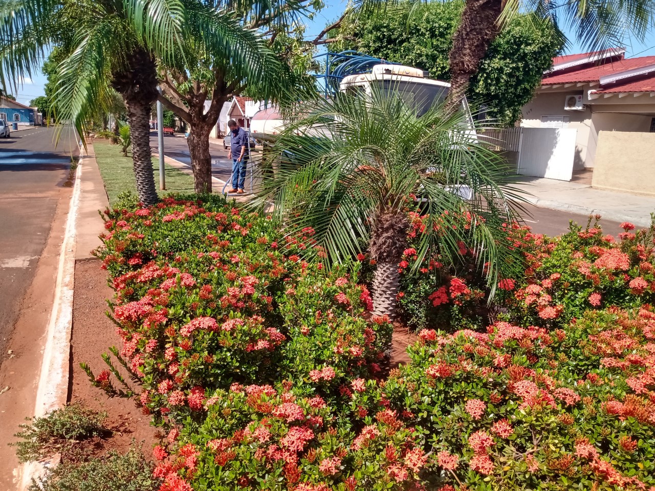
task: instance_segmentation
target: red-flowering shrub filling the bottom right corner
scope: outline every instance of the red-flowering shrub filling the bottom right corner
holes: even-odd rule
[[[384,393],[430,435],[449,486],[655,489],[652,310],[419,336]]]

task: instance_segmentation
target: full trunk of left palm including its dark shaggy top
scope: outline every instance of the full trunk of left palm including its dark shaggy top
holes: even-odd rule
[[[150,111],[157,100],[157,65],[140,48],[132,52],[126,64],[113,73],[113,88],[122,95],[130,120],[132,162],[136,191],[145,206],[157,203],[157,189],[150,151]]]

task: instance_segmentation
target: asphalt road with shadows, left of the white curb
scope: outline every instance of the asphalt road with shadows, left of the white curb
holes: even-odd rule
[[[55,137],[55,128],[35,127],[0,139],[0,363],[58,205],[73,184],[77,139],[62,132],[55,147]]]

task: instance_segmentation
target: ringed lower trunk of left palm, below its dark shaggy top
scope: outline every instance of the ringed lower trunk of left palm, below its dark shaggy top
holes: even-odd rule
[[[139,200],[150,206],[157,203],[157,188],[153,175],[153,155],[150,151],[150,104],[126,100],[132,137],[132,166]]]

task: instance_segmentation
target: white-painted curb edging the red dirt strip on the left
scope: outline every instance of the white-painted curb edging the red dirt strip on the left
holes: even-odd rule
[[[82,156],[81,156],[82,160]],[[73,284],[75,282],[75,240],[77,213],[80,204],[82,164],[77,164],[73,196],[68,209],[64,240],[59,255],[54,302],[48,321],[39,385],[34,408],[35,416],[62,407],[66,403],[69,383],[71,332],[73,329]],[[43,473],[47,463],[29,462],[22,469],[19,490],[26,490],[33,477]]]

